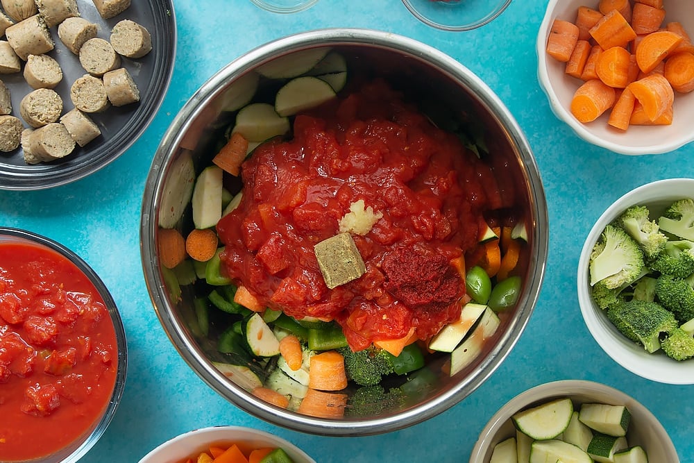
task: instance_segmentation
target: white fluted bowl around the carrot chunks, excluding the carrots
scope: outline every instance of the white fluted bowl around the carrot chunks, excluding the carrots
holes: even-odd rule
[[[675,92],[675,116],[670,126],[629,126],[626,132],[607,125],[609,111],[589,124],[577,121],[570,112],[570,102],[582,81],[564,73],[564,63],[547,56],[545,46],[555,19],[573,22],[579,6],[598,9],[598,0],[550,0],[537,36],[537,74],[550,108],[582,139],[611,151],[627,155],[659,154],[673,151],[694,140],[691,120],[694,118],[694,92]],[[663,22],[682,23],[694,33],[694,6],[690,0],[665,0],[667,15]]]

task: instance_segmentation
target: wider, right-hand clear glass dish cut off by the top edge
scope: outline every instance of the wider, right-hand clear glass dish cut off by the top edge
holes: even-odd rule
[[[403,3],[424,24],[443,31],[470,31],[498,17],[511,0],[403,0]]]

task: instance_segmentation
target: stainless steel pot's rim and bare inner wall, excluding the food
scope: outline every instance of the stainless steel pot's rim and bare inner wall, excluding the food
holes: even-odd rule
[[[212,365],[214,348],[198,341],[187,328],[192,314],[192,294],[172,303],[157,257],[158,214],[171,164],[192,153],[198,171],[210,162],[210,146],[230,124],[220,101],[233,95],[244,75],[273,58],[312,47],[329,46],[342,52],[351,69],[386,78],[410,99],[425,95],[450,117],[482,121],[490,151],[516,166],[516,188],[524,194],[526,220],[531,224],[530,252],[521,260],[525,282],[513,317],[502,324],[495,342],[477,361],[452,378],[440,378],[435,387],[410,397],[405,407],[378,416],[340,420],[312,418],[258,401]],[[185,219],[185,217],[184,217]],[[246,412],[279,426],[320,435],[373,435],[412,426],[429,419],[471,394],[489,378],[521,336],[536,303],[548,248],[548,213],[541,178],[521,128],[503,103],[466,67],[425,44],[379,31],[324,29],[285,37],[246,53],[212,76],[174,119],[155,154],[146,182],[141,222],[142,264],[146,284],[167,335],[180,355],[205,382]],[[434,366],[436,368],[437,366]],[[440,367],[440,365],[438,366]]]

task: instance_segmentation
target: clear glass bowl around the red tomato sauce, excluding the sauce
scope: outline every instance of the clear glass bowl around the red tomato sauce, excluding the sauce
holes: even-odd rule
[[[99,438],[103,435],[106,428],[110,424],[113,416],[115,416],[118,405],[123,396],[124,389],[126,387],[126,373],[128,369],[128,346],[126,343],[126,332],[123,326],[123,321],[116,307],[115,301],[108,291],[106,285],[103,284],[99,275],[92,269],[92,267],[87,264],[80,256],[76,253],[67,249],[67,247],[62,244],[53,241],[53,239],[32,233],[27,230],[20,230],[19,228],[6,228],[0,227],[0,243],[27,243],[34,246],[40,246],[43,248],[51,249],[56,253],[67,258],[72,264],[74,264],[82,273],[89,278],[92,285],[99,292],[99,296],[103,299],[106,310],[111,317],[111,322],[113,323],[113,329],[116,334],[116,343],[118,349],[117,358],[117,373],[115,385],[113,387],[113,392],[111,398],[108,401],[108,405],[104,408],[103,415],[94,423],[94,428],[92,430],[87,430],[85,435],[74,442],[69,443],[65,448],[60,451],[47,455],[39,460],[31,460],[31,463],[52,463],[52,462],[62,462],[62,463],[74,463],[81,459],[90,449],[99,441]]]

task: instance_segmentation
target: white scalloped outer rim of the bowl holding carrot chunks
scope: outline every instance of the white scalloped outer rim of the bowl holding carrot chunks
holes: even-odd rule
[[[625,155],[645,155],[645,154],[662,154],[662,153],[668,153],[670,151],[675,151],[676,149],[681,148],[682,146],[691,143],[694,141],[694,131],[690,131],[689,137],[683,137],[679,140],[673,140],[670,143],[657,143],[657,144],[651,144],[650,146],[627,146],[623,144],[618,144],[618,143],[613,143],[609,142],[607,140],[604,140],[604,138],[598,137],[597,135],[593,134],[591,131],[586,128],[584,124],[581,124],[579,121],[574,119],[566,110],[564,109],[564,106],[561,106],[561,103],[559,102],[559,98],[557,97],[557,94],[554,90],[554,87],[552,87],[551,81],[550,81],[550,76],[547,71],[547,66],[545,65],[546,63],[546,53],[545,53],[545,44],[547,41],[547,35],[548,31],[550,28],[550,25],[552,24],[552,21],[555,19],[554,11],[555,7],[559,3],[559,1],[564,1],[564,0],[550,0],[547,8],[545,10],[545,15],[542,19],[542,22],[540,24],[540,28],[537,34],[537,40],[536,40],[536,53],[537,53],[537,61],[538,61],[538,66],[537,66],[537,76],[538,76],[538,81],[540,83],[540,87],[542,91],[547,95],[547,98],[550,103],[550,108],[552,109],[552,112],[555,113],[555,116],[557,116],[561,121],[564,121],[570,128],[573,129],[573,131],[582,139],[586,140],[587,142],[590,142],[592,144],[595,144],[596,146],[602,146],[603,148],[607,148],[610,151],[614,151],[615,153],[620,153],[620,154],[625,154]],[[659,137],[654,136],[653,140],[658,141]]]

